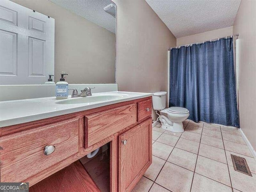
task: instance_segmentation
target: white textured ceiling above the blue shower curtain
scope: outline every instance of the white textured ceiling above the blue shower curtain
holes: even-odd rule
[[[241,0],[146,0],[176,38],[234,24]]]

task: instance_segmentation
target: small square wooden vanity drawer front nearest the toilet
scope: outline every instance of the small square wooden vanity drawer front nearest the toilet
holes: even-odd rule
[[[152,115],[152,99],[138,102],[138,121],[143,120]]]

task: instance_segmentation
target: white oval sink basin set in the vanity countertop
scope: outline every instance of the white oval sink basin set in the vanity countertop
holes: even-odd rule
[[[78,98],[68,98],[65,100],[57,101],[56,104],[81,104],[81,103],[91,103],[91,102],[101,102],[101,101],[109,101],[120,99],[124,97],[123,95],[117,94],[102,94],[102,95],[92,95],[86,97],[78,97]]]

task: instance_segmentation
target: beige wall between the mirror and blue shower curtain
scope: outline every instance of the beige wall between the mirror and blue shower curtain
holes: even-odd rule
[[[113,1],[117,5],[118,90],[166,91],[167,51],[176,46],[176,38],[144,0]]]

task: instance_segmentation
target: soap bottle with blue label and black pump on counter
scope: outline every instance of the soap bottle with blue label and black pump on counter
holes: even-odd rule
[[[68,98],[68,82],[65,81],[64,75],[60,74],[60,81],[56,83],[56,99],[66,99]]]

